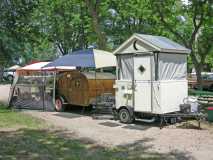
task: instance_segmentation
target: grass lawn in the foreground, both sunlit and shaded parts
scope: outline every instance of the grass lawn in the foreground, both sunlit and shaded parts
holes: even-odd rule
[[[75,139],[74,135],[64,136],[64,133],[42,120],[0,106],[0,160],[159,160],[183,157],[181,153],[148,152],[150,146],[143,146],[145,140],[110,149],[97,146],[88,139]]]

